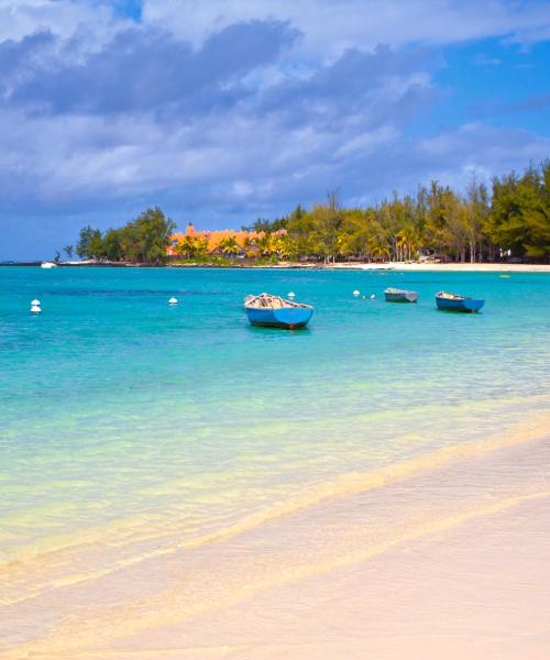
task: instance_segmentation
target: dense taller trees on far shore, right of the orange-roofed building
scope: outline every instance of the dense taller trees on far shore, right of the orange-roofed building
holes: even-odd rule
[[[248,228],[277,235],[280,257],[324,262],[550,260],[550,161],[522,175],[494,177],[491,190],[473,177],[463,195],[431,182],[416,195],[384,199],[366,208],[342,208],[336,194],[310,210],[258,220]],[[283,243],[283,245],[282,245]]]

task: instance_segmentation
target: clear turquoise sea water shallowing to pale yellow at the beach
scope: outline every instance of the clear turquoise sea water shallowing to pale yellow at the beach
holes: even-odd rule
[[[263,290],[309,327],[250,327]],[[6,603],[512,437],[550,411],[549,338],[549,274],[2,267],[0,566],[32,566]]]

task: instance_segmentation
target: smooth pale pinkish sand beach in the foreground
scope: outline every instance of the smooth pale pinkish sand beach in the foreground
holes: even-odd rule
[[[2,657],[542,660],[549,422],[349,475],[340,490],[106,574],[86,572],[91,541],[80,575],[59,576],[69,550],[12,566],[3,626],[19,626]],[[38,612],[46,625],[29,641]]]

